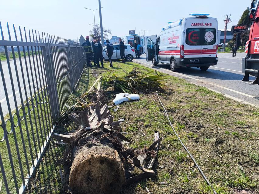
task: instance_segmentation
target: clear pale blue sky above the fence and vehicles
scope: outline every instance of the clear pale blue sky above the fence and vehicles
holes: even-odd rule
[[[6,22],[66,39],[89,35],[94,23],[93,11],[98,0],[0,0],[0,21],[6,33]],[[251,0],[101,0],[102,25],[109,28],[111,36],[124,36],[129,30],[136,34],[159,34],[164,25],[191,13],[209,13],[218,19],[219,29],[224,29],[224,15],[232,15],[228,24],[236,25]],[[99,10],[95,11],[95,23],[99,24]],[[142,30],[142,31],[141,31]],[[147,33],[146,33],[147,35]],[[5,35],[5,39],[6,39]]]

